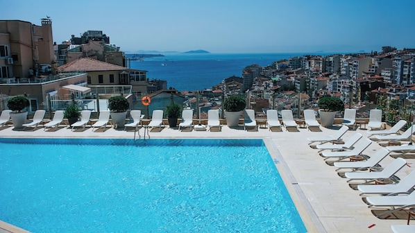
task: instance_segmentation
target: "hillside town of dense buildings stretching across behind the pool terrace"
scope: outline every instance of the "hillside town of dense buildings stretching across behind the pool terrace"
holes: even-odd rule
[[[318,110],[316,101],[324,95],[341,98],[346,108],[355,107],[360,114],[373,108],[379,96],[399,105],[412,104],[415,98],[415,49],[392,46],[371,53],[303,55],[269,67],[251,64],[241,76],[194,92],[167,89],[167,81],[150,80],[147,71],[130,69],[129,62],[102,31],[71,35],[58,44],[49,18],[42,19],[41,26],[0,21],[0,108],[5,109],[10,96],[25,94],[31,102],[29,113],[64,109],[71,98],[96,112],[96,98],[126,94],[133,109],[144,110],[140,100],[149,96],[149,112],[173,99],[200,108],[196,117],[205,117],[207,110],[220,108],[226,96],[243,94],[258,116],[271,108],[291,109],[300,118],[300,110]]]

